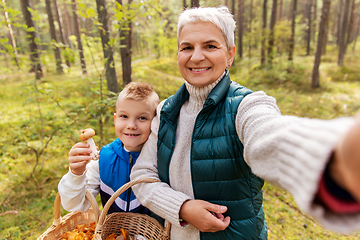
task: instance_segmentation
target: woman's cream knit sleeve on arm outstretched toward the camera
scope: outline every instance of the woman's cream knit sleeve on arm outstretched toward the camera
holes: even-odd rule
[[[281,115],[276,100],[264,92],[246,96],[236,116],[244,158],[253,173],[288,190],[305,213],[340,233],[359,229],[360,214],[335,214],[314,198],[336,144],[354,123],[353,118]]]

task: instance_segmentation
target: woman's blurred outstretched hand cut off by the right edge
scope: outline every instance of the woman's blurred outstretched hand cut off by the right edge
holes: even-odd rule
[[[331,177],[360,202],[360,112],[356,124],[345,135],[329,165]]]

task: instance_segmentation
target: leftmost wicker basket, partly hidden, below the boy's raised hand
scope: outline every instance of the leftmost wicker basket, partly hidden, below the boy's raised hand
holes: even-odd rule
[[[78,224],[90,224],[91,222],[98,222],[100,210],[94,196],[89,190],[86,190],[85,197],[91,204],[91,207],[86,212],[75,211],[61,217],[60,206],[61,198],[57,194],[54,202],[54,222],[37,240],[61,240],[62,235],[67,231],[72,231]]]

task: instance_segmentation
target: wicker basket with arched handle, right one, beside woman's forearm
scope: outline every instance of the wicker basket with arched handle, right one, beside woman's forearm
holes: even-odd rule
[[[95,239],[103,240],[107,236],[114,233],[120,235],[120,229],[123,228],[129,232],[130,236],[141,235],[148,240],[168,240],[170,239],[170,223],[164,228],[156,219],[139,213],[116,212],[107,215],[111,204],[121,193],[138,183],[158,182],[152,178],[140,178],[130,181],[119,188],[107,201],[103,211],[99,217],[98,224],[95,229]]]

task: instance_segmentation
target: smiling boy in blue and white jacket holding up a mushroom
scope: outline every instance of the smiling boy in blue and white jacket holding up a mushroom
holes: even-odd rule
[[[120,92],[114,113],[117,139],[104,146],[97,161],[91,160],[91,149],[84,142],[76,143],[69,152],[69,172],[58,185],[61,203],[67,211],[86,211],[86,188],[105,206],[111,195],[127,183],[132,166],[150,134],[151,120],[156,114],[159,97],[144,82],[130,82]],[[89,162],[89,164],[87,164]],[[112,212],[147,213],[131,189],[122,193],[109,209]]]

